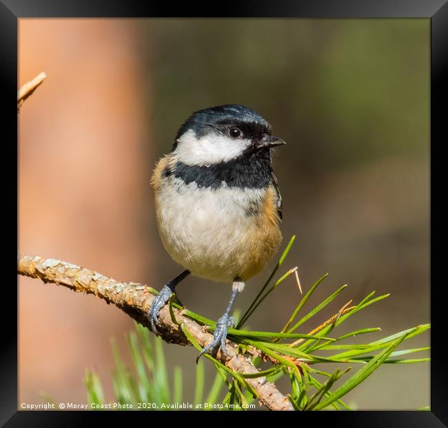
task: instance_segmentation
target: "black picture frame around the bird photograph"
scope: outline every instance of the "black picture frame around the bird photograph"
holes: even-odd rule
[[[330,419],[332,426],[355,427],[447,427],[448,426],[448,363],[443,356],[443,343],[447,331],[442,282],[442,266],[445,252],[447,209],[442,202],[445,183],[442,179],[442,156],[444,141],[448,141],[446,100],[448,93],[443,85],[447,76],[448,47],[448,0],[227,0],[220,3],[179,2],[152,0],[0,0],[0,74],[3,84],[2,100],[5,111],[3,150],[10,149],[11,157],[4,154],[3,171],[12,158],[17,158],[17,23],[20,18],[44,17],[307,17],[307,18],[429,18],[431,19],[431,411],[354,411],[354,412],[305,412],[295,423],[309,420],[323,422]],[[175,12],[174,12],[175,11]],[[445,109],[444,109],[445,107]],[[445,113],[444,113],[445,111]],[[4,153],[4,152],[3,152]],[[17,177],[17,175],[16,175]],[[7,181],[8,180],[8,181]],[[3,190],[11,190],[14,200],[17,186],[3,180]],[[6,185],[5,185],[6,184]],[[445,191],[446,193],[446,191]],[[17,212],[3,204],[3,213],[11,217]],[[17,225],[17,215],[11,224]],[[6,224],[6,220],[5,223]],[[6,229],[6,228],[4,228]],[[3,230],[4,230],[3,229]],[[8,235],[8,234],[3,234]],[[12,239],[14,239],[12,237]],[[16,237],[17,246],[17,237]],[[3,244],[13,257],[13,244]],[[12,263],[11,263],[12,264]],[[12,268],[8,269],[11,272]],[[12,281],[3,278],[3,306],[1,323],[3,349],[0,353],[1,399],[0,423],[6,427],[51,427],[72,426],[85,423],[92,418],[105,422],[112,416],[114,421],[129,423],[129,414],[123,412],[73,412],[73,411],[17,411],[17,328],[15,328],[14,305],[4,304],[17,300],[17,290]],[[17,279],[16,279],[17,281]],[[10,306],[11,308],[8,308]],[[17,307],[16,307],[17,308]],[[12,309],[9,311],[9,309]],[[17,311],[17,309],[16,309]],[[70,338],[68,338],[70,340]],[[225,412],[227,413],[227,412]],[[137,415],[138,414],[138,415]],[[259,413],[258,413],[259,414]],[[198,417],[198,422],[207,423],[207,416]],[[210,414],[209,414],[210,415]],[[213,414],[212,414],[213,415]],[[253,417],[247,412],[245,418]],[[265,417],[271,417],[263,412]],[[132,416],[143,416],[145,423],[154,423],[150,414],[134,412]],[[197,415],[196,415],[197,416]],[[216,415],[215,415],[216,416]],[[289,414],[291,416],[291,414]],[[176,416],[180,420],[180,415]],[[238,414],[238,418],[241,418]],[[278,416],[275,416],[278,417]],[[282,416],[283,417],[283,416]],[[100,419],[101,418],[101,419]],[[106,418],[106,419],[105,419]],[[183,416],[182,416],[183,418]],[[310,419],[311,418],[311,419]],[[265,420],[267,422],[267,420]],[[160,423],[160,422],[158,422]],[[250,423],[250,421],[246,421]]]

